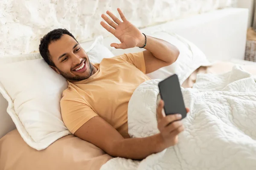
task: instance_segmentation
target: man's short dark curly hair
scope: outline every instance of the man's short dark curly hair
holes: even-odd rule
[[[47,33],[43,38],[41,38],[40,41],[40,45],[39,45],[39,52],[41,54],[41,56],[44,58],[44,60],[47,62],[47,64],[54,66],[55,64],[52,62],[52,59],[50,58],[50,53],[49,53],[49,44],[52,41],[56,41],[59,40],[63,34],[67,34],[71,37],[73,37],[73,39],[76,40],[76,38],[66,29],[54,29],[52,31],[50,31],[49,33]],[[77,42],[77,40],[76,40]]]

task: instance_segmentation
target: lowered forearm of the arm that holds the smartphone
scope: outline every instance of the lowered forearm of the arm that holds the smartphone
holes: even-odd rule
[[[164,150],[160,134],[145,138],[130,138],[113,141],[111,156],[127,159],[144,159],[147,156]]]

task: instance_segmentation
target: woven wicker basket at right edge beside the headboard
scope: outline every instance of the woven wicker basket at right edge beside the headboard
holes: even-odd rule
[[[244,59],[247,61],[256,62],[256,41],[254,40],[246,41]]]

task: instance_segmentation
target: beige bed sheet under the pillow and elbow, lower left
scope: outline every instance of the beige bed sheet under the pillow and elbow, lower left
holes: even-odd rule
[[[111,158],[73,135],[41,151],[29,147],[16,129],[0,139],[0,170],[99,170]]]

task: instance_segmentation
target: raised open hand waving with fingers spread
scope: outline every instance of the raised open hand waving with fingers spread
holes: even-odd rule
[[[135,46],[143,46],[145,41],[144,35],[137,27],[126,20],[121,9],[117,8],[117,11],[123,22],[121,22],[110,11],[107,11],[107,14],[112,18],[114,22],[105,14],[102,14],[102,18],[108,24],[104,23],[103,21],[100,23],[107,31],[113,34],[121,42],[120,44],[112,43],[111,47],[126,49],[133,48]]]

